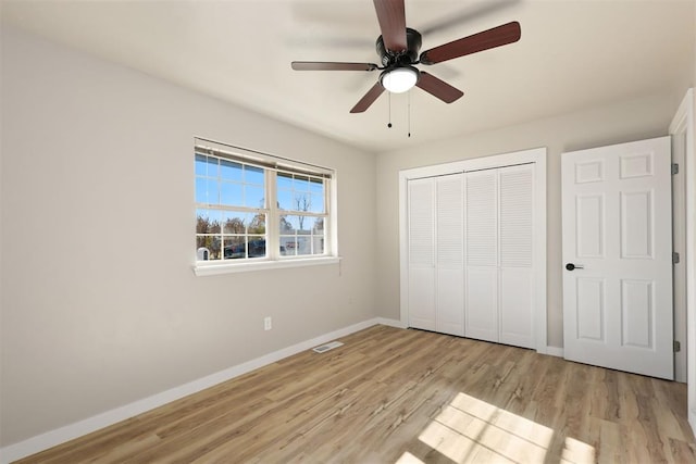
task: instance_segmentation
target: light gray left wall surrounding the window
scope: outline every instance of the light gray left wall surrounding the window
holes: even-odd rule
[[[2,446],[375,317],[373,154],[4,26],[1,77]],[[340,265],[195,277],[194,136],[335,167]]]

